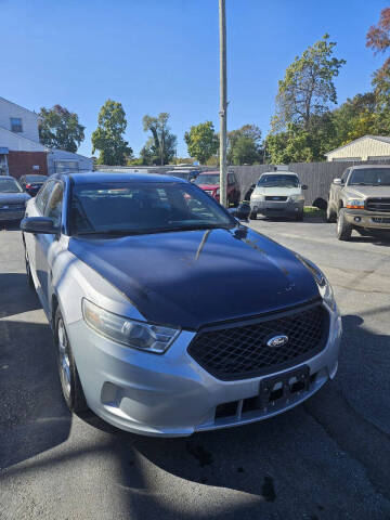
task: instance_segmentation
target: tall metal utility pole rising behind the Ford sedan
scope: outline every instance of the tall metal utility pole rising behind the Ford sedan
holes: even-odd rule
[[[220,26],[220,203],[227,205],[227,168],[226,168],[226,16],[225,0],[219,0],[219,26]]]

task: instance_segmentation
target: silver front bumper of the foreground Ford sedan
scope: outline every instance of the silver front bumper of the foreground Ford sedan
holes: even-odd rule
[[[326,347],[307,365],[311,384],[288,404],[272,410],[249,410],[245,403],[259,395],[262,379],[222,381],[202,368],[187,353],[195,333],[181,332],[162,355],[115,343],[94,333],[81,320],[67,326],[70,344],[90,408],[107,422],[134,433],[185,437],[195,431],[244,425],[289,410],[315,393],[337,372],[341,337],[339,312],[330,313]],[[217,407],[236,403],[231,414]],[[246,408],[248,408],[246,411]]]

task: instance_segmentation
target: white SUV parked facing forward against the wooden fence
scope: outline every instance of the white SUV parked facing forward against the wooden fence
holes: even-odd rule
[[[262,173],[250,195],[250,219],[265,217],[303,219],[304,196],[297,173],[270,171]]]

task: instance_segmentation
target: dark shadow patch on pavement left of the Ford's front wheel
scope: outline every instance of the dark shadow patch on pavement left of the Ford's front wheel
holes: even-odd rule
[[[48,324],[0,321],[0,395],[1,469],[68,438],[72,417],[63,403]]]

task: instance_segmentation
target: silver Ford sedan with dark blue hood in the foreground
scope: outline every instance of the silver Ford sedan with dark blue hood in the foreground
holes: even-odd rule
[[[326,277],[240,217],[164,176],[43,184],[21,229],[70,411],[190,435],[280,414],[335,377]]]

